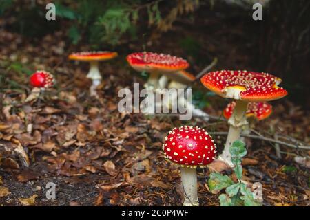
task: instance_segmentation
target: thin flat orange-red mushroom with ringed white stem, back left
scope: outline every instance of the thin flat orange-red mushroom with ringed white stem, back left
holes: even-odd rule
[[[116,52],[99,51],[99,52],[77,52],[69,55],[70,60],[85,61],[90,63],[90,71],[87,74],[87,78],[92,80],[92,86],[90,87],[91,96],[96,96],[96,87],[101,83],[102,76],[99,71],[99,62],[110,60],[116,57]]]

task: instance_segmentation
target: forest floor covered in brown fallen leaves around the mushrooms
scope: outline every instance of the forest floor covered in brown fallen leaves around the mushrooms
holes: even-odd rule
[[[133,76],[121,56],[103,63],[99,98],[90,98],[85,78],[87,64],[67,60],[72,52],[63,32],[47,35],[37,43],[23,36],[0,32],[1,109],[0,147],[21,144],[30,157],[25,168],[16,155],[2,155],[0,205],[3,206],[181,206],[182,189],[178,166],[166,162],[161,153],[167,131],[181,124],[207,131],[228,131],[227,122],[193,118],[181,122],[169,115],[145,117],[141,113],[119,113],[118,90],[132,88]],[[31,64],[31,65],[29,65]],[[35,102],[25,103],[31,88],[29,69],[46,69],[56,77],[56,87]],[[27,76],[27,77],[26,77]],[[132,79],[133,80],[128,80]],[[87,82],[87,83],[85,83]],[[209,97],[210,115],[220,116],[227,100]],[[309,112],[282,99],[273,104],[271,117],[257,122],[255,131],[265,137],[278,134],[281,141],[309,145]],[[223,149],[225,136],[214,135]],[[298,140],[298,141],[297,141]],[[244,178],[263,186],[265,206],[309,206],[309,168],[294,157],[310,151],[249,140],[244,160]],[[0,151],[1,153],[1,151]],[[0,154],[1,156],[1,154]],[[231,175],[231,172],[227,172]],[[208,168],[198,168],[201,206],[218,206],[218,195],[207,187]],[[56,184],[56,199],[45,196],[46,184]]]

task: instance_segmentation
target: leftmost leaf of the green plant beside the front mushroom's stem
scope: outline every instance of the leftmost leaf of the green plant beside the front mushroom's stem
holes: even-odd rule
[[[227,188],[228,186],[234,184],[234,181],[232,181],[227,175],[211,173],[208,184],[211,192],[216,194],[223,188]]]

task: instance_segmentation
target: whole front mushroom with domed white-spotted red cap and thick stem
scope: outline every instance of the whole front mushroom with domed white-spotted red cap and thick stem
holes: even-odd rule
[[[197,126],[181,126],[169,131],[163,144],[165,159],[180,165],[181,183],[185,193],[183,206],[199,206],[197,166],[207,166],[216,157],[212,137]]]

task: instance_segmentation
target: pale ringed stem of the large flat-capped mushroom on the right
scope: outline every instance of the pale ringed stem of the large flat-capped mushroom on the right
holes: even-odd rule
[[[236,107],[228,120],[230,124],[227,140],[223,153],[218,157],[229,166],[233,167],[234,164],[231,162],[231,155],[229,153],[229,148],[236,140],[240,138],[240,132],[242,126],[247,124],[247,118],[245,113],[247,111],[247,102],[236,100]]]

